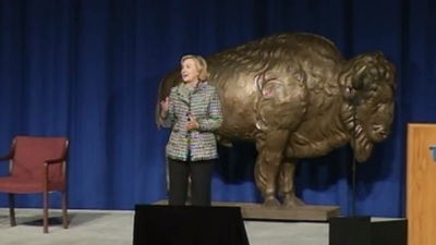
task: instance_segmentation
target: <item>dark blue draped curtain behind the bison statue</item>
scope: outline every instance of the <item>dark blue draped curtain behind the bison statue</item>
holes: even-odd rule
[[[154,120],[159,79],[185,53],[308,32],[331,39],[346,58],[383,51],[395,63],[392,134],[359,164],[355,207],[359,215],[403,217],[405,125],[436,121],[435,12],[431,0],[0,0],[0,152],[15,135],[64,135],[71,208],[133,209],[164,199],[169,132]],[[214,200],[261,200],[254,159],[251,146],[222,150]],[[351,162],[347,146],[302,161],[298,195],[350,213]],[[24,195],[17,205],[40,201]]]

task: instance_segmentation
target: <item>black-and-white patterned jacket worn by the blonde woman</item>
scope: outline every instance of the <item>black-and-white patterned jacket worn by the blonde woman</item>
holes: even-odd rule
[[[179,93],[180,86],[171,88],[168,113],[162,118],[162,126],[171,127],[167,145],[167,157],[174,160],[210,160],[218,158],[214,131],[222,123],[221,103],[215,87],[199,82],[189,97]],[[187,131],[187,114],[193,114],[199,128]]]

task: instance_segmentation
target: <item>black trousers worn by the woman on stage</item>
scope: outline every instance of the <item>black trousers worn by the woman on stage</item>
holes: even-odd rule
[[[170,185],[168,205],[185,205],[191,174],[191,205],[210,206],[214,162],[214,160],[179,161],[168,159]]]

